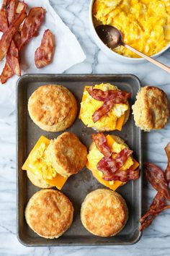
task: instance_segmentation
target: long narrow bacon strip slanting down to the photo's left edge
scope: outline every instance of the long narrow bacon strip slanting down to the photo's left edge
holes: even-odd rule
[[[21,14],[17,17],[14,22],[9,26],[9,29],[6,30],[6,33],[4,33],[0,40],[0,61],[4,59],[4,56],[6,55],[7,51],[9,50],[9,46],[12,42],[12,38],[14,34],[17,32],[19,25],[23,22],[24,18],[27,16],[27,14],[22,11]]]

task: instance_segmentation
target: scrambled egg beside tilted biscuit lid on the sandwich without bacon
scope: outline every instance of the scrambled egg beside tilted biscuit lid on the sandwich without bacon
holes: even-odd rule
[[[45,150],[45,143],[41,143],[40,147],[30,154],[29,167],[36,176],[40,176],[42,179],[53,179],[57,173],[45,155]]]

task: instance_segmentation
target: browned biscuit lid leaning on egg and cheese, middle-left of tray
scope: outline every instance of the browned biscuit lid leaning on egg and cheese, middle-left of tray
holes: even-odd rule
[[[46,155],[58,174],[68,177],[86,165],[87,150],[76,135],[64,132],[57,139],[50,140]]]

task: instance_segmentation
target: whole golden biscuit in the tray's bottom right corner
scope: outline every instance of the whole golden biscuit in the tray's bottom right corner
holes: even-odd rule
[[[96,236],[115,236],[128,221],[128,207],[117,192],[97,189],[81,205],[81,222]]]

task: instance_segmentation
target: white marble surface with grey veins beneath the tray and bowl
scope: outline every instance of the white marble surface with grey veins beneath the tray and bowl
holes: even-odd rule
[[[152,64],[121,64],[110,61],[91,40],[88,25],[89,0],[51,0],[51,4],[64,22],[79,39],[86,54],[86,61],[66,73],[131,73],[137,75],[143,85],[156,85],[165,90],[170,100],[170,74]],[[76,54],[76,49],[75,49]],[[170,64],[170,50],[159,58]],[[0,110],[1,111],[1,110]],[[166,166],[164,146],[170,140],[170,124],[158,132],[143,136],[144,159]],[[170,210],[161,213],[156,221],[143,232],[143,237],[133,246],[120,247],[24,247],[16,236],[16,179],[15,179],[15,112],[0,120],[0,256],[11,255],[170,255]],[[147,184],[143,187],[145,211],[155,192]]]

